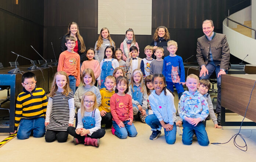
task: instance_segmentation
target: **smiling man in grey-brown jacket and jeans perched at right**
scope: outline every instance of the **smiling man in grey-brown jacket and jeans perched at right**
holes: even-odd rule
[[[217,78],[217,107],[216,113],[218,124],[220,125],[221,109],[221,81],[220,75],[228,73],[230,60],[230,50],[225,34],[213,32],[213,21],[205,20],[202,24],[204,36],[198,38],[196,58],[201,68],[200,79],[209,79],[211,74],[216,73]]]

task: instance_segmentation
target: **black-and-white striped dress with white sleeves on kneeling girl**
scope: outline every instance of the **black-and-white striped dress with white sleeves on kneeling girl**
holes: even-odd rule
[[[74,123],[75,106],[73,92],[68,96],[62,92],[55,92],[53,97],[49,97],[45,122],[50,122],[46,126],[48,130],[67,131],[68,124]]]

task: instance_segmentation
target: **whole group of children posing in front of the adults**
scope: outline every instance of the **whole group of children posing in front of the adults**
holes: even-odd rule
[[[75,144],[99,147],[106,128],[111,128],[113,135],[121,139],[135,137],[138,133],[133,122],[137,114],[152,128],[150,140],[157,139],[163,127],[168,144],[175,143],[176,125],[183,123],[184,144],[191,144],[195,134],[198,143],[207,146],[204,121],[209,113],[215,128],[220,128],[207,93],[209,80],[199,82],[191,74],[185,82],[182,58],[175,54],[178,48],[175,41],[168,41],[170,55],[164,59],[161,47],[153,50],[146,46],[146,58],[141,59],[138,48],[131,46],[124,62],[122,50],[109,45],[99,63],[93,59],[95,50],[88,48],[88,60],[82,63],[81,70],[79,55],[73,51],[74,37],[67,36],[65,45],[67,51],[60,55],[48,100],[45,91],[36,88],[36,76],[32,72],[23,74],[24,89],[18,95],[15,110],[18,139],[33,134],[34,137],[45,135],[47,142],[56,139],[65,142],[70,134]],[[152,58],[153,52],[156,59]],[[83,85],[78,88],[80,79]],[[184,92],[185,84],[188,91]],[[173,86],[179,97],[179,118],[175,114]]]

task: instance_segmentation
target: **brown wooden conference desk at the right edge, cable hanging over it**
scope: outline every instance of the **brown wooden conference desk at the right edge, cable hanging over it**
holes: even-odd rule
[[[221,126],[240,126],[241,122],[226,122],[225,109],[244,116],[256,74],[221,75]],[[254,122],[243,122],[243,126],[256,126],[256,87],[253,89],[246,118]]]

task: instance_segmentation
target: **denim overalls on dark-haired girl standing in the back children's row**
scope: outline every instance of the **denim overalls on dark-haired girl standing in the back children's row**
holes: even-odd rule
[[[104,85],[105,78],[107,76],[112,76],[113,75],[113,72],[114,72],[114,68],[112,66],[112,61],[113,60],[114,59],[111,59],[111,61],[105,61],[105,59],[103,59],[102,72],[100,74],[100,82],[101,82],[100,89],[106,88],[106,86]]]

